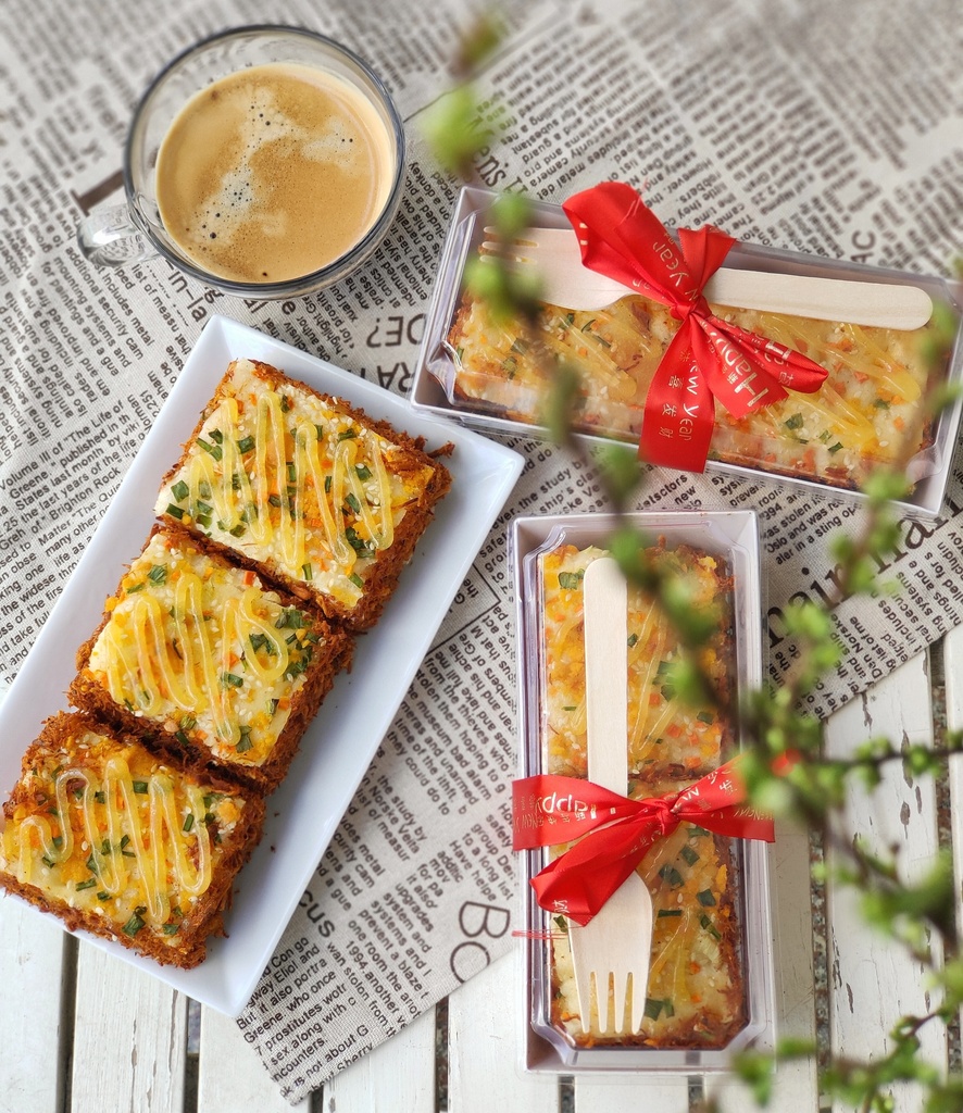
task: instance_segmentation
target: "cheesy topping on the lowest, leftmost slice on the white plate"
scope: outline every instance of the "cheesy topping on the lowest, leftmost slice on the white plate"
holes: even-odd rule
[[[139,746],[83,731],[69,752],[24,774],[0,868],[128,935],[149,925],[173,937],[209,888],[243,808],[239,797],[176,779]]]

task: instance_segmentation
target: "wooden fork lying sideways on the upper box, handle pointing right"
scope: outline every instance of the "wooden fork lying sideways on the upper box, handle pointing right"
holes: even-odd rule
[[[645,294],[583,266],[571,228],[529,228],[511,243],[495,238],[495,228],[484,232],[489,238],[481,245],[482,259],[500,256],[513,267],[535,269],[543,284],[541,299],[550,305],[601,309],[627,294]],[[933,314],[930,295],[918,286],[733,267],[720,267],[706,284],[705,295],[713,305],[883,328],[922,328]]]

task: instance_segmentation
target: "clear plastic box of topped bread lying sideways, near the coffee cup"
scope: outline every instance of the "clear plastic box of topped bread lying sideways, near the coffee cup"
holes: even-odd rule
[[[485,432],[544,435],[541,412],[547,366],[511,323],[493,324],[484,305],[464,288],[464,269],[479,253],[497,194],[462,190],[442,255],[425,335],[413,376],[416,410],[443,414]],[[535,227],[569,228],[557,205],[533,201]],[[885,282],[922,287],[961,318],[959,289],[942,278],[867,267],[846,260],[735,245],[726,266],[751,270]],[[826,366],[816,394],[796,394],[736,422],[717,406],[709,470],[759,474],[843,498],[862,499],[873,467],[892,460],[896,441],[922,421],[906,469],[915,486],[903,503],[927,515],[940,512],[960,423],[959,400],[934,422],[922,418],[927,328],[912,332],[720,308],[751,332],[805,351]],[[580,362],[582,398],[576,432],[637,443],[648,383],[677,327],[668,309],[627,296],[602,311],[549,308],[539,325],[540,351],[550,359]],[[583,353],[580,355],[579,353]],[[963,329],[942,374],[963,377]]]

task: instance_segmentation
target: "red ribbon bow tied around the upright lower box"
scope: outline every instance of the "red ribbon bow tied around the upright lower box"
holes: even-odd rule
[[[532,878],[539,905],[584,926],[649,848],[680,823],[772,843],[773,820],[746,805],[737,761],[719,766],[681,791],[642,800],[577,777],[541,774],[514,781],[515,850],[579,839]]]

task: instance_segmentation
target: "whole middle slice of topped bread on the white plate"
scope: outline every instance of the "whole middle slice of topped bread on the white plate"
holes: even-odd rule
[[[80,648],[69,697],[186,768],[268,791],[352,648],[255,572],[157,529]]]

